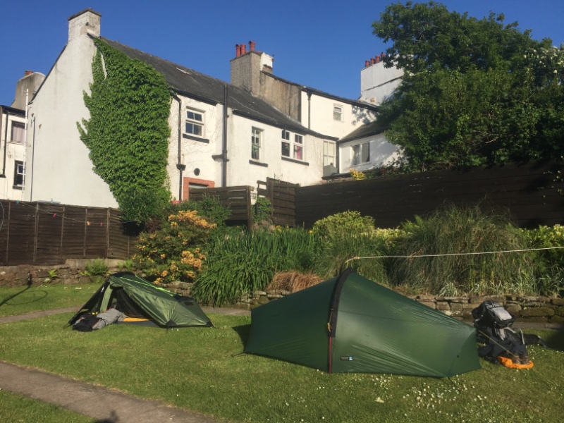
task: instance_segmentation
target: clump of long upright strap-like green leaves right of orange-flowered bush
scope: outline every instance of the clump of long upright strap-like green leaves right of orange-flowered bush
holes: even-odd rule
[[[262,290],[279,271],[307,271],[320,243],[303,229],[276,228],[214,237],[192,295],[206,304],[223,305]]]

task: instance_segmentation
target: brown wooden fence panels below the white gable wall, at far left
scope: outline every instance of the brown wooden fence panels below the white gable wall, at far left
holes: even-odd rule
[[[125,259],[136,238],[116,209],[0,200],[0,265]]]

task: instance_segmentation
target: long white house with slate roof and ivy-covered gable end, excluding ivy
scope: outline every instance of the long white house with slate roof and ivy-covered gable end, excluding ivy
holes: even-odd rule
[[[28,106],[25,200],[117,207],[92,171],[77,122],[89,118],[92,58],[101,15],[68,18],[68,42]],[[267,177],[321,182],[337,166],[336,142],[376,116],[376,106],[277,78],[273,60],[238,44],[231,83],[102,38],[159,71],[171,89],[168,176],[177,199],[190,186],[256,186]],[[326,168],[327,171],[327,168]]]

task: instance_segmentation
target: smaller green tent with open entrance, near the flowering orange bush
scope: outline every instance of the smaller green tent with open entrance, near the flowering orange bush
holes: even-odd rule
[[[105,312],[110,307],[128,317],[147,319],[149,324],[156,326],[212,326],[192,298],[173,293],[128,272],[110,275],[68,324],[74,324],[85,314]]]

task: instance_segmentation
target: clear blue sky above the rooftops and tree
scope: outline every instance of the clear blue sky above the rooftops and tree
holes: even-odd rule
[[[102,13],[102,36],[229,82],[235,44],[274,56],[274,74],[349,99],[364,61],[384,51],[372,23],[392,1],[2,0],[0,104],[10,105],[25,70],[47,75],[66,44],[68,18]],[[564,43],[564,0],[447,0],[450,11],[504,13],[532,38]],[[248,50],[248,47],[247,47]]]

